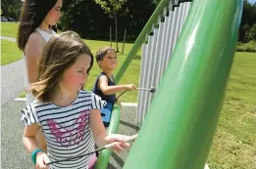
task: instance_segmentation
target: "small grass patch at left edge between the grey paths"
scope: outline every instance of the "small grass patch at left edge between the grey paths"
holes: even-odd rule
[[[1,65],[22,59],[22,52],[18,49],[15,42],[2,39],[1,53]]]

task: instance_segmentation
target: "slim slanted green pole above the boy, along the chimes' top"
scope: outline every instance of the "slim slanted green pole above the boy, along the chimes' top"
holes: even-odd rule
[[[154,23],[157,23],[158,16],[162,15],[164,8],[168,6],[169,2],[170,2],[170,0],[162,0],[159,3],[159,5],[157,6],[157,8],[154,11],[154,13],[152,14],[152,16],[150,17],[150,19],[147,21],[146,25],[144,26],[144,28],[138,35],[136,41],[134,42],[133,47],[129,51],[125,63],[123,63],[121,68],[119,69],[119,71],[115,77],[116,83],[118,83],[120,81],[122,75],[125,73],[125,71],[128,68],[128,64],[132,61],[132,58],[136,55],[136,53],[140,49],[141,45],[143,44],[143,42],[145,40],[146,33],[148,33],[151,30],[152,25]]]

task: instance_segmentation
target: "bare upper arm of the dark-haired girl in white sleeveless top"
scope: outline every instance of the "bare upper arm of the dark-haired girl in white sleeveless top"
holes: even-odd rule
[[[36,31],[30,34],[26,42],[24,52],[26,55],[26,69],[29,84],[37,81],[38,62],[45,44],[44,39]]]

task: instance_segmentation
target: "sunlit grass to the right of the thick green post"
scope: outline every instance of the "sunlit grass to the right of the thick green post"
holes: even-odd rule
[[[256,54],[236,53],[208,157],[212,169],[256,169]]]

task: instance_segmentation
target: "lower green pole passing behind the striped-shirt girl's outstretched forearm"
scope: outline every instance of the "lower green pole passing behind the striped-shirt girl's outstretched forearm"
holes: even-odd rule
[[[114,105],[111,115],[111,121],[107,129],[107,134],[114,134],[118,132],[120,121],[120,106]],[[111,150],[104,149],[100,152],[95,168],[106,169],[110,160]]]

